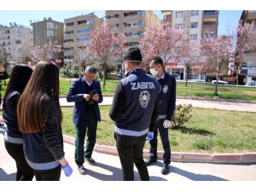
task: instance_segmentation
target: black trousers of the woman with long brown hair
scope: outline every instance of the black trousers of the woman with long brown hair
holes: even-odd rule
[[[35,171],[37,181],[60,181],[61,179],[61,165],[55,169]]]

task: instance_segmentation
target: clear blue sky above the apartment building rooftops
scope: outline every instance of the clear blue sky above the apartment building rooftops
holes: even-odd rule
[[[64,19],[75,17],[78,15],[86,15],[93,10],[0,10],[0,24],[9,26],[9,22],[30,26],[29,20],[44,20],[44,17],[51,17],[52,20],[64,22]],[[94,10],[98,17],[104,16],[103,10]],[[218,15],[218,31],[224,30],[225,26],[230,22],[238,22],[241,17],[242,10],[220,10]],[[163,18],[160,10],[154,10],[154,14],[160,19]]]

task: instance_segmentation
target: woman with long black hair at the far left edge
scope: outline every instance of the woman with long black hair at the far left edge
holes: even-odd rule
[[[32,68],[25,64],[16,65],[11,73],[9,84],[3,97],[3,120],[6,124],[4,145],[9,155],[15,160],[16,181],[32,181],[34,171],[27,164],[23,152],[23,134],[19,131],[17,103],[32,75]]]

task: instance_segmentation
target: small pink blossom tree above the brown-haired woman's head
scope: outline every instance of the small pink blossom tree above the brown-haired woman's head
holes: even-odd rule
[[[44,46],[35,46],[31,51],[32,61],[48,61],[49,59],[55,59],[56,56],[63,51],[61,44],[51,43],[51,39],[49,39],[49,43],[45,43]]]

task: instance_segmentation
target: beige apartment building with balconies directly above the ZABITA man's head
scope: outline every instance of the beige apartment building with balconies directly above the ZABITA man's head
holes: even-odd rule
[[[145,27],[160,20],[152,10],[107,10],[105,18],[113,32],[125,32],[127,46],[138,46]]]

